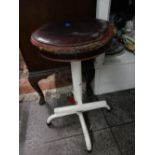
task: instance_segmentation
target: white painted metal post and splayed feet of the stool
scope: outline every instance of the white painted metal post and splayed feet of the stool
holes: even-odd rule
[[[110,110],[110,106],[107,104],[106,101],[97,101],[97,102],[83,104],[82,103],[81,61],[71,62],[71,71],[72,71],[72,81],[73,81],[73,94],[74,94],[74,99],[76,101],[76,105],[55,108],[54,114],[48,117],[47,124],[50,124],[51,121],[55,118],[77,114],[80,119],[87,150],[91,151],[92,144],[91,144],[88,128],[86,126],[86,122],[83,117],[83,112],[93,110],[93,109],[98,109],[98,108],[106,108]]]

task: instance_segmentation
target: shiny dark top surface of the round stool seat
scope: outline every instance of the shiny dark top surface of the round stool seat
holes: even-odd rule
[[[95,41],[107,30],[101,20],[48,23],[32,34],[32,39],[56,46],[77,46]]]

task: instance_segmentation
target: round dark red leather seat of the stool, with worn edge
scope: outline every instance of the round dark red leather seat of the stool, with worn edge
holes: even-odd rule
[[[31,35],[40,54],[55,61],[86,60],[104,53],[113,36],[104,20],[51,22]]]

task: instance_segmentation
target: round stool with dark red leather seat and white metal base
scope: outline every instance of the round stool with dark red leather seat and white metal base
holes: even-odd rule
[[[77,114],[83,130],[86,147],[92,150],[92,144],[83,112],[106,108],[106,101],[82,103],[81,61],[95,58],[104,53],[113,37],[112,27],[107,21],[91,19],[84,21],[55,21],[48,23],[31,35],[31,43],[38,47],[38,53],[52,61],[70,62],[73,81],[73,95],[76,104],[58,107],[48,117],[47,125],[53,119]]]

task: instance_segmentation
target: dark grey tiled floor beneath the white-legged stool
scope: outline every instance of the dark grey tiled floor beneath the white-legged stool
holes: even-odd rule
[[[85,113],[93,151],[87,153],[81,126],[76,115],[53,121],[46,119],[53,107],[67,105],[66,94],[46,94],[47,104],[40,106],[36,94],[20,99],[20,155],[134,155],[135,154],[135,91],[134,89],[96,96],[112,107]]]

